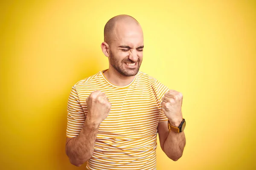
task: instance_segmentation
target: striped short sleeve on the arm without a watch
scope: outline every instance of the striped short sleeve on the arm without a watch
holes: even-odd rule
[[[68,138],[79,135],[86,116],[79,102],[76,88],[73,86],[67,101],[67,132]]]

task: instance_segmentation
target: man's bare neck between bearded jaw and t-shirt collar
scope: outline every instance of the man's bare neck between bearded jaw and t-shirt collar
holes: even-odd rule
[[[111,82],[113,85],[116,86],[125,86],[130,84],[135,76],[124,76],[120,74],[116,69],[110,67],[107,71],[105,71],[104,76]]]

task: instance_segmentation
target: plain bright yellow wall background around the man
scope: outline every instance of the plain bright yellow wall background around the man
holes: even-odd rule
[[[135,17],[143,71],[183,94],[186,147],[157,170],[256,168],[255,1],[0,2],[0,169],[75,170],[65,155],[67,98],[108,68],[105,23]]]

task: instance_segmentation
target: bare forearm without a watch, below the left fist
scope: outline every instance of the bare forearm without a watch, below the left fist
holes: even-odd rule
[[[66,153],[71,164],[81,166],[93,155],[94,144],[99,130],[99,124],[86,119],[76,138],[71,139],[66,146]]]

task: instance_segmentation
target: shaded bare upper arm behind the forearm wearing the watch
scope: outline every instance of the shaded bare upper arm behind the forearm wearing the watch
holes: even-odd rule
[[[166,141],[168,134],[169,134],[169,129],[168,129],[168,122],[159,122],[157,126],[157,131],[158,131],[158,136],[159,136],[159,141],[160,141],[160,146],[162,150],[164,151],[164,142]]]

